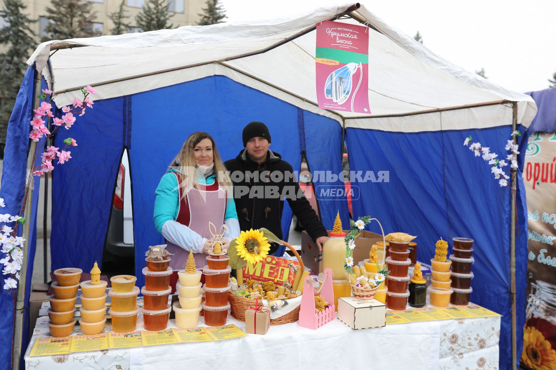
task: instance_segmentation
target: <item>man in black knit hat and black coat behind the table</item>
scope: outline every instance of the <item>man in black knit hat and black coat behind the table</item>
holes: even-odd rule
[[[266,227],[282,239],[282,210],[288,201],[307,234],[319,250],[328,239],[326,228],[301,191],[292,166],[269,150],[270,132],[262,122],[251,122],[243,130],[245,149],[224,163],[234,182],[234,198],[241,230]],[[275,252],[272,246],[270,252]]]

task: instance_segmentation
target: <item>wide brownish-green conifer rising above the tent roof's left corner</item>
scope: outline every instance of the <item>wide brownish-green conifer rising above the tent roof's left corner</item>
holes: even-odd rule
[[[98,36],[91,30],[96,17],[92,3],[86,0],[51,0],[46,8],[50,21],[44,32],[48,34],[42,41],[64,40],[68,38]]]

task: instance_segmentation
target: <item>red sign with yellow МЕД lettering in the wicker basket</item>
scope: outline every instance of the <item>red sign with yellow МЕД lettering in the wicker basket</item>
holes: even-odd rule
[[[260,262],[255,263],[255,265],[247,263],[244,267],[244,279],[272,281],[277,285],[282,285],[284,281],[289,280],[293,285],[295,279],[294,266],[299,267],[299,262],[275,256],[266,256]]]

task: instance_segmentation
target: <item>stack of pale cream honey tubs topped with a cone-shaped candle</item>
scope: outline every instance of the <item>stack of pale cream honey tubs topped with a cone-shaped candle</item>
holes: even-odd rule
[[[181,329],[191,329],[197,327],[201,312],[201,277],[200,270],[195,268],[195,258],[189,252],[185,270],[178,271],[178,281],[176,287],[180,293],[179,302],[173,304],[173,311],[176,315],[176,326]]]

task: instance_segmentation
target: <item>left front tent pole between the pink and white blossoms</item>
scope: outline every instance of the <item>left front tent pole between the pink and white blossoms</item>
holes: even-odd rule
[[[33,109],[39,107],[39,102],[41,99],[37,98],[38,92],[41,91],[41,75],[34,70],[33,76]],[[19,363],[21,362],[21,341],[23,333],[23,313],[25,311],[25,286],[27,278],[27,259],[29,257],[29,248],[31,244],[31,205],[33,200],[33,157],[34,152],[37,150],[37,142],[31,141],[29,146],[29,153],[27,154],[27,171],[26,171],[26,181],[25,191],[27,192],[27,201],[25,203],[25,208],[23,211],[23,216],[25,221],[23,223],[22,237],[27,242],[27,247],[22,248],[23,250],[23,261],[21,263],[21,270],[19,270],[19,282],[17,285],[17,298],[16,298],[16,310],[14,312],[14,328],[13,328],[13,346],[12,346],[12,363],[13,370],[19,370]]]

